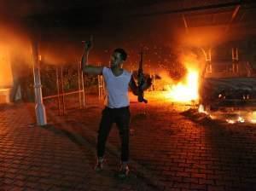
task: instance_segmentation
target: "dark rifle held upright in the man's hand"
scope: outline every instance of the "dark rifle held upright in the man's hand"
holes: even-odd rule
[[[137,82],[138,82],[137,101],[148,103],[148,101],[144,99],[144,92],[143,92],[143,84],[145,83],[143,78],[143,49],[141,51],[141,60],[139,62],[139,67],[137,70]]]

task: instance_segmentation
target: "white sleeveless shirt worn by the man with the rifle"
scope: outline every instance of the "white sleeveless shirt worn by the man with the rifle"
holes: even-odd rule
[[[130,104],[128,90],[131,80],[131,72],[123,70],[119,76],[114,76],[108,67],[103,67],[102,75],[105,82],[104,104],[110,108],[127,107]]]

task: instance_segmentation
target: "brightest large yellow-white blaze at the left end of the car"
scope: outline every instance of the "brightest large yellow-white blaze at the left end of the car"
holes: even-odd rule
[[[199,88],[199,72],[188,69],[188,74],[183,82],[173,84],[166,94],[166,98],[177,102],[197,101]]]

